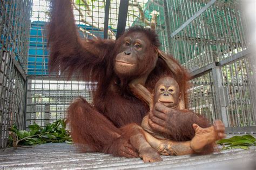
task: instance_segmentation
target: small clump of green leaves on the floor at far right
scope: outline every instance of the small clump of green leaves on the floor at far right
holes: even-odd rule
[[[249,146],[256,146],[256,139],[250,135],[234,136],[229,139],[220,139],[217,144],[223,145],[223,150],[232,148],[249,149]]]

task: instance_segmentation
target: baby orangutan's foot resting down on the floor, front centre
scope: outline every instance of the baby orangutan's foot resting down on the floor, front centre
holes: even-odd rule
[[[139,157],[142,158],[144,162],[158,162],[163,160],[159,153],[152,147],[147,147],[140,151]]]

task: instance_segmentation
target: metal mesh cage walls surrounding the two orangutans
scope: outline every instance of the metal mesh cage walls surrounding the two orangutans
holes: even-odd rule
[[[0,5],[0,136],[5,147],[9,127],[45,126],[65,118],[75,98],[92,100],[95,84],[49,75],[49,0],[5,0]],[[254,56],[239,1],[130,0],[126,5],[126,28],[156,30],[161,50],[191,72],[191,110],[211,122],[223,120],[227,132],[256,132]],[[74,0],[80,36],[115,39],[119,7],[118,0]]]

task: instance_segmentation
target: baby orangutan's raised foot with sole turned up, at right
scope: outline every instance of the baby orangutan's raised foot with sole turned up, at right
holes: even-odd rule
[[[190,147],[195,152],[201,152],[204,146],[225,138],[226,136],[225,126],[220,120],[215,121],[214,126],[201,128],[197,124],[193,124],[193,128],[196,133],[191,140]]]

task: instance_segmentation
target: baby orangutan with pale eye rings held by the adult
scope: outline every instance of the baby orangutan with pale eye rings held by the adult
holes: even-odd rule
[[[161,78],[155,86],[153,95],[142,85],[130,85],[130,87],[137,97],[150,105],[149,114],[152,113],[155,105],[159,105],[158,109],[160,108],[160,110],[172,108],[184,111],[179,114],[171,113],[173,114],[173,120],[170,121],[170,124],[173,124],[172,135],[154,132],[149,125],[151,121],[149,114],[144,117],[142,127],[133,126],[133,130],[136,130],[137,133],[134,132],[130,142],[138,149],[139,156],[144,162],[161,161],[159,154],[211,153],[214,142],[225,137],[225,127],[220,120],[215,121],[214,126],[210,126],[203,117],[184,108],[184,104],[180,103],[181,93],[175,79]]]

